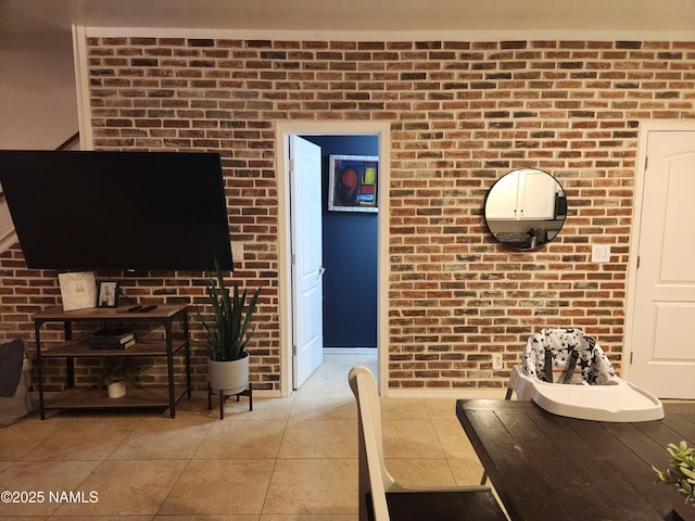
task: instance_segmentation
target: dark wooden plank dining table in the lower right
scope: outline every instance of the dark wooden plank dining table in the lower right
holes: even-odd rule
[[[695,402],[664,409],[661,420],[622,423],[556,416],[533,402],[456,402],[511,521],[678,520],[674,488],[656,483],[652,465],[666,469],[669,443],[695,444]]]

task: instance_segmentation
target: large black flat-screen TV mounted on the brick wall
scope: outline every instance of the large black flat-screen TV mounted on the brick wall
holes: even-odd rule
[[[27,266],[232,269],[218,154],[0,151]]]

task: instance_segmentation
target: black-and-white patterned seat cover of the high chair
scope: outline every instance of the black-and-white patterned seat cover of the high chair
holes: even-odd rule
[[[572,356],[573,352],[577,355]],[[608,385],[619,380],[596,340],[581,329],[544,329],[530,336],[521,361],[523,372],[530,378],[547,382],[545,360],[551,358],[554,374],[563,373],[568,368],[574,373],[569,383]],[[570,367],[572,358],[576,359],[574,368]]]

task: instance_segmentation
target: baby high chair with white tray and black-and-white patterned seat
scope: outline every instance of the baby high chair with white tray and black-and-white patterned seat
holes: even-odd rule
[[[612,364],[581,329],[544,329],[529,338],[511,368],[507,398],[533,401],[548,412],[597,421],[664,418],[661,402],[616,376]]]

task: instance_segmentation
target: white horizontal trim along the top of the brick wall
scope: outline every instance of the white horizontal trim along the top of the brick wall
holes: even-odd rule
[[[96,38],[213,38],[279,41],[695,41],[695,28],[681,30],[281,30],[200,27],[86,27]]]

